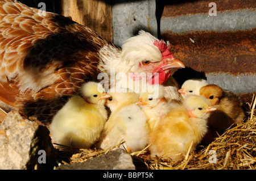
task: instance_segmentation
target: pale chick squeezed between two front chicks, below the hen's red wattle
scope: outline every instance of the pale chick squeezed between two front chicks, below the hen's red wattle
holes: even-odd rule
[[[164,86],[147,87],[146,92],[141,93],[139,101],[136,103],[141,106],[147,116],[147,124],[150,131],[167,115],[176,102],[176,100],[172,100],[172,102],[167,101],[165,98],[166,94]]]

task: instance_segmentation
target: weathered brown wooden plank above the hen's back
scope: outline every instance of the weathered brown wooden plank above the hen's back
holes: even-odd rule
[[[96,0],[61,0],[60,14],[77,23],[92,28],[106,39],[113,41],[112,5]]]

